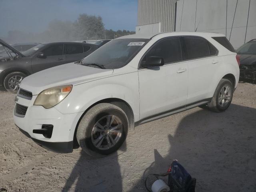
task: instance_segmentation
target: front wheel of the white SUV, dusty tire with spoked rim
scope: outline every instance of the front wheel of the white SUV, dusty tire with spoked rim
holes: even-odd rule
[[[105,157],[122,146],[126,140],[128,126],[128,118],[121,108],[109,103],[100,103],[84,114],[79,122],[76,138],[88,155]]]

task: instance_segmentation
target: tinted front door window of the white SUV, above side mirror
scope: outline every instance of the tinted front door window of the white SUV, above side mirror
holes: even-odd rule
[[[177,62],[182,60],[180,38],[168,38],[153,46],[146,54],[146,57],[158,56],[164,59],[164,63]],[[146,57],[144,59],[146,59]]]

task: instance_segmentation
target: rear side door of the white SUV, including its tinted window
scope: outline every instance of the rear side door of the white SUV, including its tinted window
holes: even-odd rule
[[[219,64],[218,50],[206,39],[197,36],[182,38],[188,63],[187,104],[208,99],[211,82]]]

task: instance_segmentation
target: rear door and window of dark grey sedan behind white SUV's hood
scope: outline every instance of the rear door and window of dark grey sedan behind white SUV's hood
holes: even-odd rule
[[[89,44],[65,44],[67,63],[81,60],[91,53]]]

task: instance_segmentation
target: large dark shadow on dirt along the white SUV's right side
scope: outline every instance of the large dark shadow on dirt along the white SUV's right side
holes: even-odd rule
[[[202,109],[188,114],[174,135],[166,135],[167,155],[152,149],[155,161],[130,192],[141,192],[146,176],[166,172],[173,159],[197,179],[196,192],[255,192],[255,125],[256,109],[235,104],[222,113]]]

